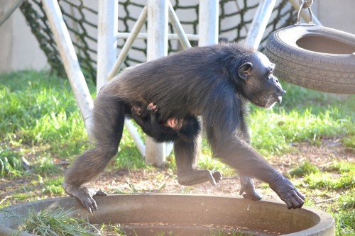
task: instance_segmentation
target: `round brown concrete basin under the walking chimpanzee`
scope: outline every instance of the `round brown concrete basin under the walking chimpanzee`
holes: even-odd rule
[[[97,196],[99,210],[90,215],[72,197],[51,198],[0,209],[0,235],[16,235],[22,221],[15,215],[43,208],[75,210],[90,223],[120,223],[127,235],[210,235],[244,232],[246,235],[335,235],[331,215],[304,207],[288,210],[275,201],[251,201],[219,196],[133,194]],[[22,232],[20,236],[31,234]]]

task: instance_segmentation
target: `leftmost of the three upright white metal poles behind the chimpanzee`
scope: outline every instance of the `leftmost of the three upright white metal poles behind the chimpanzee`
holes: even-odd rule
[[[97,26],[97,92],[107,83],[117,57],[118,0],[100,0]]]

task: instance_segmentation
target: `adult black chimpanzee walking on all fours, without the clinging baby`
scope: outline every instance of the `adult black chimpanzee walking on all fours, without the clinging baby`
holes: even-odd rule
[[[241,191],[258,199],[249,178],[253,176],[267,182],[288,208],[302,207],[305,197],[249,145],[244,117],[247,101],[268,108],[280,103],[285,94],[273,76],[274,67],[261,52],[233,43],[192,47],[124,70],[104,86],[94,102],[96,147],[81,154],[67,171],[65,191],[87,210],[96,210],[92,196],[102,192],[83,184],[100,174],[117,153],[131,104],[155,103],[161,120],[202,117],[214,157],[238,170]],[[198,140],[174,141],[180,184],[198,184],[213,177],[208,170],[196,169]]]

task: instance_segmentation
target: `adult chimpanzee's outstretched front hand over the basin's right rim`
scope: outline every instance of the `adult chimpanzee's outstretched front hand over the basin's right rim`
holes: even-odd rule
[[[288,209],[301,208],[305,203],[305,196],[300,193],[293,184],[278,173],[272,184],[269,184],[271,189],[278,193],[282,201],[286,203]]]

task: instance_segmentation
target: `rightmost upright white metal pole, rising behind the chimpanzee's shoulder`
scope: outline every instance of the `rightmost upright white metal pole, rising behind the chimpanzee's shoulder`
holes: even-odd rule
[[[200,0],[199,46],[218,43],[218,0]]]

